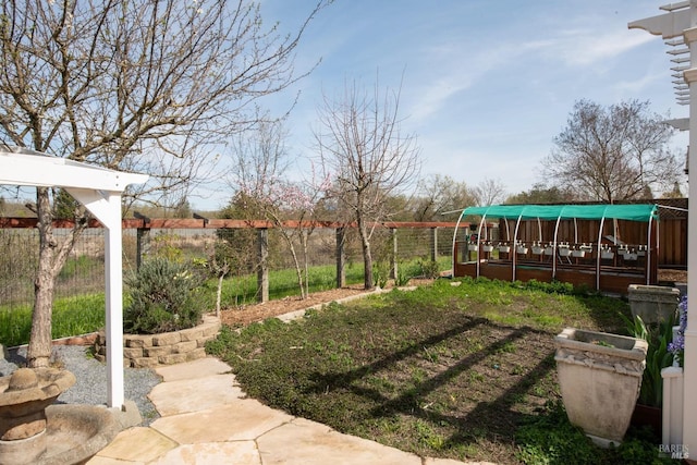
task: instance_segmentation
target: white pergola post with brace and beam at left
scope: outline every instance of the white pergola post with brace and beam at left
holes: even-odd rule
[[[107,404],[123,408],[123,271],[121,194],[145,174],[123,173],[23,148],[0,150],[0,184],[63,187],[105,227]]]

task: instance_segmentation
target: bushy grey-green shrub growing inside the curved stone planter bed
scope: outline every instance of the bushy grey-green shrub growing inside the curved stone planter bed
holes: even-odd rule
[[[125,279],[130,304],[123,329],[135,334],[156,334],[192,328],[201,320],[204,307],[197,298],[201,283],[186,265],[155,257]]]

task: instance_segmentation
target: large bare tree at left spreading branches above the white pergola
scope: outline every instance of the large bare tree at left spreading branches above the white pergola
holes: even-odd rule
[[[302,76],[299,29],[266,28],[254,1],[8,0],[0,24],[0,138],[186,189],[213,145],[254,123],[258,98]],[[181,197],[180,197],[181,198]],[[37,189],[40,253],[27,358],[50,356],[53,281],[80,233],[59,243],[49,189]]]

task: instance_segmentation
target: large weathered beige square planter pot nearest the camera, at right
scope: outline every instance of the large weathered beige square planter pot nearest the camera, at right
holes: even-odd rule
[[[646,341],[566,328],[554,338],[557,374],[568,420],[601,446],[629,427],[646,366]]]

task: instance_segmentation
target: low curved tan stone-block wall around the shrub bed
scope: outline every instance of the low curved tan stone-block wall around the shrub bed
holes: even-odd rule
[[[150,368],[191,362],[206,356],[206,342],[220,332],[220,319],[205,315],[204,322],[195,328],[161,334],[124,334],[123,365],[132,368]],[[107,338],[100,331],[95,341],[95,358],[106,360]]]

